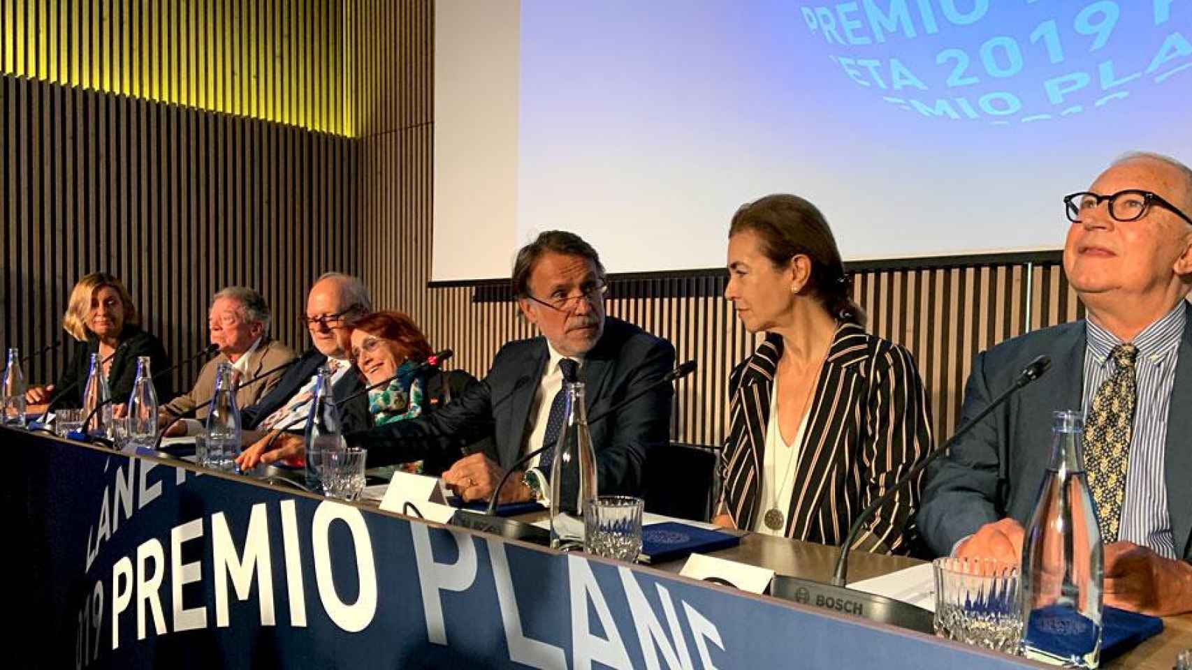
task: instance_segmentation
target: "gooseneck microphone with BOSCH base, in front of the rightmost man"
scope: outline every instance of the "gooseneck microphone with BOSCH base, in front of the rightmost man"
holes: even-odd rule
[[[803,580],[800,577],[790,577],[787,575],[775,575],[774,581],[770,584],[770,594],[775,597],[840,610],[873,621],[889,624],[892,626],[932,633],[932,614],[926,609],[915,607],[907,602],[845,587],[848,583],[849,553],[851,551],[852,543],[856,541],[857,536],[861,534],[865,524],[874,518],[877,509],[880,509],[882,505],[889,502],[889,500],[894,497],[895,493],[901,490],[902,487],[915,481],[919,474],[923,472],[927,465],[933,463],[936,458],[939,458],[940,455],[946,453],[960,438],[971,431],[973,427],[980,424],[981,420],[985,419],[991,412],[1006,402],[1006,400],[1008,400],[1010,396],[1019,389],[1042,377],[1050,367],[1051,358],[1048,356],[1038,356],[1031,361],[1025,368],[1023,368],[1023,371],[1018,374],[1010,388],[1001,392],[1001,394],[993,399],[985,407],[985,409],[977,413],[976,417],[973,417],[957,428],[956,432],[952,433],[952,437],[949,438],[943,446],[931,451],[926,458],[907,470],[906,475],[902,475],[902,477],[886,489],[886,493],[869,503],[869,506],[857,515],[852,526],[849,527],[849,534],[845,537],[844,544],[840,545],[840,553],[837,557],[836,571],[832,576],[831,584],[824,584],[813,580]]]

